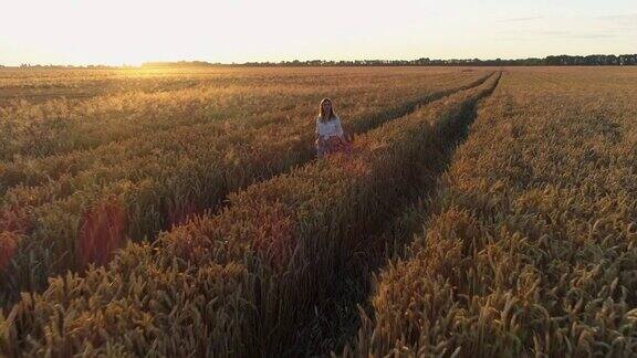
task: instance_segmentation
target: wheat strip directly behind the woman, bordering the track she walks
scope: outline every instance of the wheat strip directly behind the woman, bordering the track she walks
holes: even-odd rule
[[[393,108],[379,107],[376,92],[357,103],[363,110],[351,109],[347,124],[353,134],[361,134],[485,78],[460,86],[456,83],[466,81],[460,76],[443,78],[441,83],[450,88],[411,95]],[[122,162],[103,159],[109,166],[41,187],[9,190],[3,207],[8,219],[0,229],[10,231],[18,246],[0,275],[3,299],[13,301],[21,291],[41,291],[49,276],[66,270],[105,264],[129,239],[154,239],[192,214],[215,211],[230,192],[313,158],[311,120],[275,115],[262,119],[270,123],[234,130],[230,126],[217,136],[197,126],[169,136],[158,134],[158,140],[142,144],[152,151],[147,157]],[[135,144],[114,152],[136,152]]]

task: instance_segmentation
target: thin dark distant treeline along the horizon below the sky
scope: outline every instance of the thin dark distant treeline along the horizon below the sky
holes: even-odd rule
[[[546,56],[544,59],[519,59],[519,60],[354,60],[354,61],[280,61],[280,62],[246,62],[246,63],[211,63],[206,61],[176,61],[176,62],[146,62],[142,67],[219,67],[219,66],[249,66],[249,67],[274,67],[274,66],[627,66],[637,65],[637,54],[624,55],[587,55],[587,56]],[[4,67],[0,65],[0,67]],[[24,69],[134,69],[130,65],[31,65],[21,64]]]

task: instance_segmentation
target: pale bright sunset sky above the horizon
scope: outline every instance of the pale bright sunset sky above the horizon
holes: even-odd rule
[[[0,0],[0,64],[637,53],[636,0]]]

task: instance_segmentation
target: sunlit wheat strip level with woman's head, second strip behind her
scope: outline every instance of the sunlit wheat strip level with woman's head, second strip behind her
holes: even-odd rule
[[[366,83],[364,76],[345,75],[324,81],[332,96],[347,97],[352,94],[364,96],[378,88],[389,92],[414,88],[418,93],[428,87],[428,80],[436,82],[439,77],[445,82],[462,76],[468,75],[417,74],[403,78],[401,86],[389,86],[391,77]],[[268,81],[259,78],[247,81],[244,85],[202,83],[170,92],[129,91],[86,99],[62,97],[39,104],[17,102],[0,107],[0,128],[7,136],[0,143],[0,159],[23,160],[87,150],[135,138],[140,133],[170,130],[221,118],[257,116],[258,119],[261,113],[278,113],[291,104],[292,107],[299,104],[302,108],[314,108],[315,102],[326,93],[314,83],[296,82],[294,76],[279,78],[283,85],[268,85]]]

